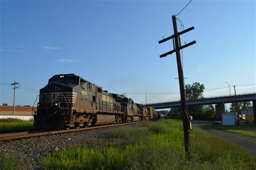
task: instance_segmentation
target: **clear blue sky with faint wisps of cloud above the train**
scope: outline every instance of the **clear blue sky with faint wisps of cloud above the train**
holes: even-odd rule
[[[0,104],[32,105],[34,90],[55,74],[75,73],[111,93],[145,93],[147,102],[178,100],[176,55],[171,16],[189,1],[5,1],[1,0]],[[178,18],[184,42],[185,83],[206,89],[256,84],[255,1],[195,1]],[[179,31],[180,31],[179,26]],[[7,84],[6,84],[7,83]],[[237,93],[255,92],[238,86]],[[234,89],[231,87],[231,93]],[[229,89],[206,90],[205,96],[228,95]],[[132,95],[145,103],[145,95]]]

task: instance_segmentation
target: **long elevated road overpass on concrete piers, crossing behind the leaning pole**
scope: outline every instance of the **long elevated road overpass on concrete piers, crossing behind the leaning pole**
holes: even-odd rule
[[[225,112],[225,103],[233,102],[252,102],[253,103],[253,112],[254,120],[256,120],[256,93],[248,94],[238,94],[238,95],[228,95],[228,96],[215,96],[215,97],[204,97],[198,100],[187,101],[188,106],[196,105],[207,105],[215,104],[216,116],[218,119],[221,118],[221,114]],[[181,102],[179,101],[170,101],[170,102],[161,102],[161,103],[151,103],[146,104],[146,107],[153,107],[154,109],[168,109],[168,108],[179,108],[181,107]],[[256,121],[255,121],[256,124]]]

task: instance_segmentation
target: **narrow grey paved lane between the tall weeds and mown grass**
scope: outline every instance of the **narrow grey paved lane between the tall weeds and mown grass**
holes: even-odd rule
[[[214,134],[215,136],[222,137],[227,141],[231,141],[233,144],[241,147],[242,149],[256,156],[256,138],[246,136],[243,134],[209,128],[207,126],[204,126],[205,123],[206,121],[193,121],[192,124],[194,126],[199,126],[201,129],[205,130],[208,133]]]

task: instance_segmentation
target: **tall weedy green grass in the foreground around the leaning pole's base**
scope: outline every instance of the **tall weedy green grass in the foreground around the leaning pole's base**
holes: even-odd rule
[[[90,146],[47,153],[41,163],[46,169],[256,168],[255,157],[197,128],[191,131],[191,161],[186,161],[182,122],[175,120],[123,126]]]

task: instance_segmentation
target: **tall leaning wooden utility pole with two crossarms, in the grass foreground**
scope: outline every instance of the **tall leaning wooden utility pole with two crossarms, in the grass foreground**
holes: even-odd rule
[[[183,49],[183,48],[188,47],[190,45],[196,44],[196,41],[192,41],[192,42],[190,42],[190,43],[188,43],[184,46],[181,46],[179,36],[181,34],[184,34],[188,31],[193,30],[194,27],[190,27],[189,29],[178,32],[177,18],[176,18],[175,15],[172,16],[172,23],[173,23],[174,34],[170,37],[167,37],[163,40],[158,41],[158,43],[161,44],[162,42],[165,42],[165,41],[170,40],[170,39],[175,40],[175,44],[174,44],[174,40],[173,40],[174,49],[172,51],[169,51],[167,53],[164,53],[164,54],[160,55],[160,58],[165,57],[166,55],[169,55],[169,54],[172,54],[172,53],[176,52],[178,75],[179,75],[181,111],[182,111],[182,115],[183,115],[183,131],[184,131],[185,152],[186,152],[186,159],[190,160],[190,133],[189,133],[188,130],[191,129],[191,126],[190,126],[190,121],[188,119],[188,109],[187,109],[186,98],[185,98],[184,76],[183,76],[183,67],[181,65],[181,59],[180,59],[180,49]]]

